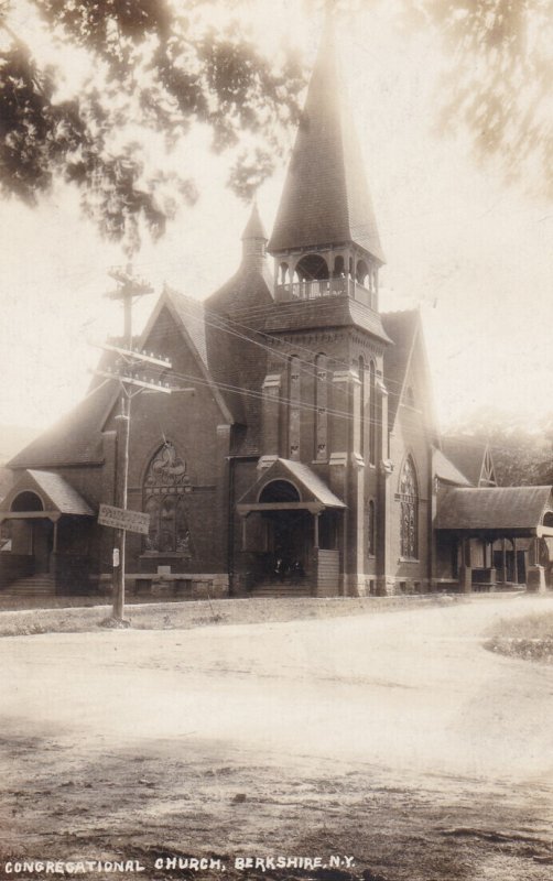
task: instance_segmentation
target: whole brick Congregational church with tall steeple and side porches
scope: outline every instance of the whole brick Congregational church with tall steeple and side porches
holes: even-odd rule
[[[128,508],[149,533],[127,533],[130,594],[543,587],[551,487],[498,488],[489,452],[442,444],[420,314],[380,311],[384,253],[329,28],[272,233],[253,206],[241,243],[204,303],[165,287],[138,341],[176,391],[132,402]],[[119,499],[119,399],[95,380],[10,463],[0,589],[109,590],[98,510]]]

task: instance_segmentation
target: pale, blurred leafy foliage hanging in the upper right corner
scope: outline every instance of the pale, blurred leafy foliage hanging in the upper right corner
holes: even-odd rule
[[[432,25],[451,55],[441,122],[465,127],[480,159],[553,198],[552,0],[419,0],[409,28]]]

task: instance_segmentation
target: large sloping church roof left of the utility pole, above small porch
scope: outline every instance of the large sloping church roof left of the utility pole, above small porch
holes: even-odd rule
[[[115,380],[97,385],[66,416],[18,453],[8,463],[9,467],[101,465],[101,432],[118,395],[119,385]]]

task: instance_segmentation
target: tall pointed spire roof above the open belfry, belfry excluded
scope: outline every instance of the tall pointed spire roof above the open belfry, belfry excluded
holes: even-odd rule
[[[269,251],[355,242],[384,262],[364,160],[327,23]]]

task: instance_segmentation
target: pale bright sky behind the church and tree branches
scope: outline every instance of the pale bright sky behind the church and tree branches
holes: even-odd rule
[[[18,6],[18,26],[31,28]],[[553,411],[552,207],[508,187],[494,165],[478,166],[463,132],[437,133],[447,59],[430,31],[399,34],[389,10],[377,6],[337,29],[387,255],[381,308],[421,307],[443,427],[487,406],[531,427]],[[284,40],[313,62],[321,19],[296,0],[252,2],[247,19],[268,52]],[[45,57],[48,48],[43,39]],[[228,159],[210,153],[205,133],[174,161],[192,168],[200,199],[183,206],[159,243],[144,241],[134,268],[156,292],[166,282],[202,300],[235,272],[250,208],[225,187]],[[283,180],[284,165],[258,193],[268,232]],[[126,258],[64,187],[33,209],[1,204],[0,228],[0,425],[41,428],[83,396],[99,355],[90,344],[122,329],[104,294],[113,289],[110,267]],[[137,329],[155,298],[140,304]]]

